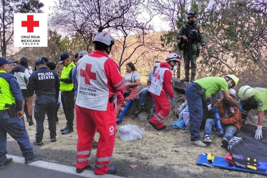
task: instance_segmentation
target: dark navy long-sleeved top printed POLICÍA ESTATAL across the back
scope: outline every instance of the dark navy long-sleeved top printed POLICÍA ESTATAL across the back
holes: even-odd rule
[[[42,67],[32,73],[27,85],[28,91],[34,91],[39,95],[57,95],[59,92],[59,78],[56,72]]]

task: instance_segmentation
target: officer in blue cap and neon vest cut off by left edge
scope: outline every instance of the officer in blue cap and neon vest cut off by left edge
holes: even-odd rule
[[[40,154],[33,154],[28,133],[21,119],[22,92],[16,77],[9,74],[12,61],[0,57],[0,169],[4,169],[12,158],[6,157],[6,133],[15,139],[25,158],[25,164],[30,164],[42,158]]]

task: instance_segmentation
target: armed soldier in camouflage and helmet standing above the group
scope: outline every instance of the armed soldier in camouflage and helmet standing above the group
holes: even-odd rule
[[[182,82],[189,82],[189,69],[191,61],[191,80],[195,81],[195,75],[197,72],[197,57],[199,56],[200,49],[198,48],[198,43],[201,44],[201,52],[205,50],[205,37],[201,25],[195,23],[197,18],[197,12],[189,11],[186,18],[188,22],[184,24],[177,35],[177,39],[183,42],[183,58],[184,58],[184,72],[185,78]],[[190,33],[190,34],[189,34]],[[190,42],[191,41],[191,42]],[[191,43],[191,45],[190,45]],[[191,53],[191,54],[190,54]]]

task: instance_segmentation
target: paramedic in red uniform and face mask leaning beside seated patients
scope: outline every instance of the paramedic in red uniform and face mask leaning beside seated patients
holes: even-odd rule
[[[166,129],[167,126],[163,125],[165,117],[170,113],[170,102],[174,101],[174,94],[172,91],[171,78],[172,73],[170,70],[176,70],[178,62],[180,62],[180,55],[171,53],[167,56],[166,61],[162,62],[156,68],[154,78],[151,81],[150,89],[152,98],[156,106],[156,115],[153,116],[148,122],[156,130]]]

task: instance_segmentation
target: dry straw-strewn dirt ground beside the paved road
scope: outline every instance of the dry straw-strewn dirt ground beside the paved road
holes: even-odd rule
[[[65,127],[66,120],[63,113],[63,109],[58,111],[59,124],[57,124],[57,141],[51,143],[49,140],[49,130],[45,129],[44,132],[44,145],[40,148],[40,151],[53,150],[55,152],[63,151],[76,151],[77,144],[77,132],[76,132],[76,116],[74,118],[74,132],[68,135],[61,135],[60,129]],[[214,132],[212,139],[212,145],[209,145],[205,148],[197,147],[191,145],[190,141],[190,132],[187,130],[176,130],[172,128],[173,121],[166,121],[167,129],[160,131],[160,135],[157,134],[157,130],[153,129],[148,123],[138,123],[133,119],[124,118],[123,122],[120,125],[117,125],[117,129],[121,125],[134,124],[140,127],[145,127],[143,138],[133,141],[122,141],[119,138],[119,133],[116,134],[115,147],[112,155],[112,162],[117,164],[123,164],[125,169],[129,168],[129,165],[125,164],[137,164],[140,166],[147,166],[150,169],[163,168],[168,172],[177,173],[177,175],[184,175],[182,177],[196,177],[193,175],[208,175],[206,177],[217,177],[218,175],[223,175],[222,177],[264,177],[256,174],[249,174],[244,172],[228,171],[225,169],[215,169],[208,168],[205,166],[198,166],[196,164],[198,156],[201,153],[210,153],[213,152],[215,156],[224,157],[226,154],[229,154],[224,148],[220,147],[221,138],[216,136]],[[44,126],[48,125],[47,120],[44,122]],[[33,126],[28,126],[26,124],[26,129],[28,131],[30,141],[32,142],[35,139],[36,124]],[[203,131],[201,132],[201,137],[203,137]],[[99,134],[96,133],[95,140],[98,140]],[[8,136],[8,140],[13,140]],[[34,145],[34,147],[36,147]],[[178,152],[175,152],[174,149],[178,149]],[[177,151],[177,150],[176,150]],[[75,154],[75,153],[74,153]],[[94,162],[96,155],[96,149],[92,150],[90,161]],[[73,155],[75,157],[75,155]],[[53,156],[52,156],[53,157]],[[56,157],[56,155],[54,155]],[[57,161],[55,158],[52,161]],[[71,163],[66,161],[66,164],[75,165],[75,159]],[[64,163],[64,161],[63,161]],[[136,168],[135,168],[136,169]],[[135,172],[135,169],[132,169],[132,172]],[[140,171],[136,169],[136,171]],[[212,172],[216,172],[213,175]],[[138,172],[136,172],[138,173]],[[123,173],[124,176],[129,176],[126,173]],[[135,176],[134,176],[135,177]],[[157,177],[151,175],[151,177]],[[162,176],[161,176],[162,177]],[[165,176],[164,176],[165,177]],[[173,176],[166,176],[173,177]],[[180,177],[180,176],[179,176]],[[198,176],[197,176],[198,177]],[[200,176],[202,177],[202,176]]]

